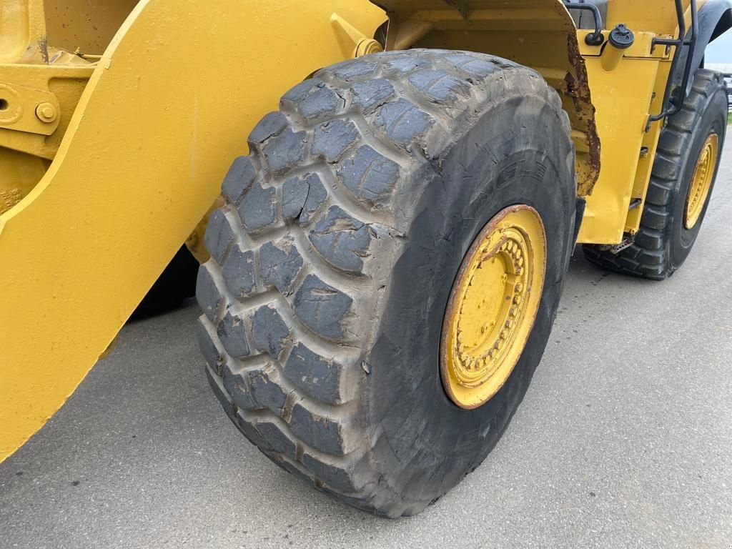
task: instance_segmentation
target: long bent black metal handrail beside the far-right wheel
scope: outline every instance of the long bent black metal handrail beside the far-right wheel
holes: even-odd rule
[[[686,91],[689,87],[689,79],[691,78],[692,64],[694,63],[694,51],[699,36],[699,17],[696,12],[696,0],[691,0],[691,36],[687,40],[686,17],[684,14],[684,4],[681,0],[676,0],[676,18],[679,20],[679,37],[678,38],[654,38],[653,45],[674,46],[676,51],[673,52],[673,60],[671,61],[671,72],[668,76],[666,89],[663,94],[663,103],[661,112],[649,116],[648,124],[646,124],[646,132],[651,129],[651,124],[665,119],[666,116],[673,116],[681,111],[686,99]],[[676,67],[679,66],[681,56],[684,53],[684,46],[688,46],[686,66],[684,67],[684,78],[681,79],[681,94],[676,98],[671,97],[671,88],[673,87],[673,79],[676,75]]]

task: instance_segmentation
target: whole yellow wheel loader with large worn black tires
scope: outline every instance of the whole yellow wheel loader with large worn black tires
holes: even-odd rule
[[[422,511],[507,428],[575,244],[653,280],[689,255],[731,26],[732,0],[0,0],[0,459],[186,242],[236,427]]]

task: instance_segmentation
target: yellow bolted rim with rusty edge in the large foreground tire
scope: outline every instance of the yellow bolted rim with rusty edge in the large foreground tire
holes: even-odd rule
[[[504,209],[463,260],[442,326],[440,373],[460,408],[488,402],[526,347],[546,272],[546,234],[531,206]]]

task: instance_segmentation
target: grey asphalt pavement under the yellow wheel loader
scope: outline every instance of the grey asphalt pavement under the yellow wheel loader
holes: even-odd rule
[[[190,303],[125,327],[0,466],[0,548],[732,548],[731,145],[670,280],[575,255],[509,430],[422,515],[345,507],[244,440],[206,384]]]

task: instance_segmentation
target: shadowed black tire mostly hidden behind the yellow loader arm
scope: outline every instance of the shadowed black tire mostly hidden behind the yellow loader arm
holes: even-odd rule
[[[182,246],[132,313],[130,320],[167,313],[195,296],[196,273],[198,261],[187,247]]]

